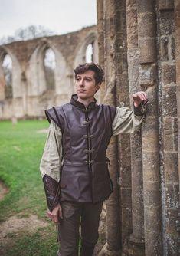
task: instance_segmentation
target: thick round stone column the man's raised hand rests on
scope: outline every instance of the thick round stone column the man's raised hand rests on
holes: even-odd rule
[[[142,129],[146,256],[162,255],[155,0],[138,0],[139,82],[151,102]]]

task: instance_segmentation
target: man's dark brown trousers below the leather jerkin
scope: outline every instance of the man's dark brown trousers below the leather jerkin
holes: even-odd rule
[[[98,240],[98,227],[103,202],[61,202],[63,219],[58,225],[60,251],[57,255],[77,256],[81,245],[93,248]]]

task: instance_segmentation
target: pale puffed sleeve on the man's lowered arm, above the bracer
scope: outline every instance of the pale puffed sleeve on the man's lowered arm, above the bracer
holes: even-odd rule
[[[44,153],[41,158],[40,172],[43,177],[45,174],[51,176],[57,182],[60,179],[61,169],[61,146],[62,133],[61,129],[51,120],[49,131],[47,134],[46,143],[44,146]]]

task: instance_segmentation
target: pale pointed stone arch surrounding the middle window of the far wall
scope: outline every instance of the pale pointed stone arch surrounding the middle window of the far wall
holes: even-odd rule
[[[55,56],[54,90],[47,88],[44,71],[44,53],[47,49],[51,49]],[[43,38],[40,41],[31,55],[27,75],[29,116],[37,115],[37,110],[33,106],[38,106],[38,116],[42,116],[44,109],[52,107],[59,102],[63,103],[71,94],[70,85],[68,86],[68,83],[64,84],[64,80],[67,80],[67,64],[64,56],[47,38]]]

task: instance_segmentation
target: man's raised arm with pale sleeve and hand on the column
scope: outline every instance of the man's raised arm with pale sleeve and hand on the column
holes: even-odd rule
[[[128,107],[117,107],[116,115],[113,120],[113,135],[119,133],[133,133],[139,129],[147,109],[147,96],[145,92],[133,94],[133,110]]]

